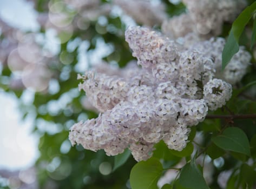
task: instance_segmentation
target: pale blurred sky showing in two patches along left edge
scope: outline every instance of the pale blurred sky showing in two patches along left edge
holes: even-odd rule
[[[0,1],[0,17],[23,31],[39,29],[35,14],[32,4],[23,0]],[[23,121],[17,97],[0,89],[0,169],[18,170],[34,165],[39,152],[38,136],[31,134],[32,120]]]

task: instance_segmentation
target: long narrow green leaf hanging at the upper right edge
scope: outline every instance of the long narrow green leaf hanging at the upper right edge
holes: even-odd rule
[[[252,5],[247,6],[247,8],[241,12],[237,19],[235,19],[232,24],[231,31],[227,38],[227,42],[222,51],[222,70],[225,69],[226,65],[229,63],[231,58],[239,50],[239,38],[242,34],[242,31],[245,28],[245,25],[250,21],[253,12],[256,9],[256,2]]]

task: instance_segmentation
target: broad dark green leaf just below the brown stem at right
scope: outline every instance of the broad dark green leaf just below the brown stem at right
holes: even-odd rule
[[[221,149],[239,152],[250,156],[250,145],[244,131],[237,127],[228,127],[222,134],[212,138]]]

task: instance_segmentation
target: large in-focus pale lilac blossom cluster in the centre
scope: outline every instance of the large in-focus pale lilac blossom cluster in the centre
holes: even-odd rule
[[[211,58],[196,49],[178,51],[178,44],[161,33],[135,26],[126,31],[126,40],[142,68],[131,63],[108,75],[94,73],[96,68],[79,76],[79,88],[101,113],[71,127],[69,139],[109,156],[128,147],[137,161],[150,158],[160,140],[181,151],[190,127],[205,119],[208,106],[225,104],[231,85],[214,79]]]

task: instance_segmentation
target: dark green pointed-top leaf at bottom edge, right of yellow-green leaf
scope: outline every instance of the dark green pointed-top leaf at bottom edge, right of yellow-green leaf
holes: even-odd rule
[[[194,159],[182,167],[179,184],[189,189],[209,189]]]

